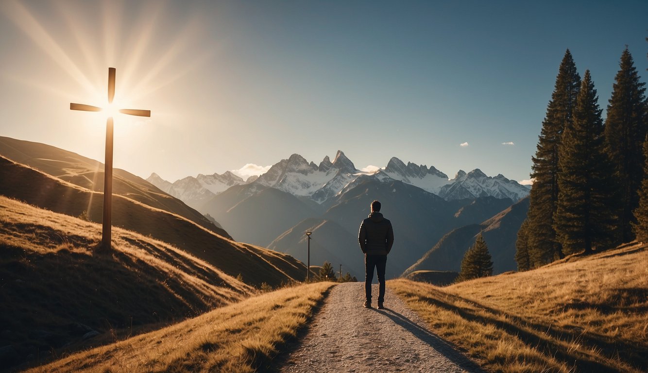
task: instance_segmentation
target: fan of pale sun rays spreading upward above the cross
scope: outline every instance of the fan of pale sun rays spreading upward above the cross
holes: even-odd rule
[[[71,101],[84,100],[106,107],[105,71],[114,66],[119,71],[116,106],[136,107],[137,100],[146,100],[213,55],[213,49],[197,56],[188,52],[202,30],[202,23],[191,14],[179,28],[167,28],[169,15],[165,10],[169,3],[63,2],[38,6],[52,7],[45,12],[48,17],[43,16],[43,8],[37,12],[15,0],[4,1],[0,11],[29,36],[43,58],[58,65],[60,69],[51,74],[67,75],[71,84],[64,89],[32,76],[12,79]],[[169,38],[160,40],[161,34],[168,34]]]

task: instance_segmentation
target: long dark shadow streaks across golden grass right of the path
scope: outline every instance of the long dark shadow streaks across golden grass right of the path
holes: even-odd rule
[[[447,300],[442,300],[444,298]],[[441,291],[433,291],[430,297],[420,297],[420,299],[439,308],[452,311],[468,321],[484,325],[492,324],[509,335],[514,335],[527,345],[535,346],[544,354],[575,366],[579,372],[618,372],[618,367],[605,361],[597,361],[578,350],[566,348],[564,344],[577,341],[579,345],[601,350],[610,360],[620,359],[641,371],[646,371],[648,368],[648,351],[642,346],[615,341],[595,333],[584,333],[580,328],[560,328],[551,324],[532,322],[511,313],[484,306],[474,300]],[[452,304],[457,301],[471,304],[477,310]]]

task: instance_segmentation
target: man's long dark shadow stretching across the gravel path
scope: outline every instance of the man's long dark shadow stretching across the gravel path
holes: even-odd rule
[[[450,345],[450,343],[444,341],[434,333],[430,332],[416,322],[411,321],[397,311],[390,310],[389,308],[384,308],[383,310],[376,310],[375,308],[371,308],[371,310],[382,313],[382,315],[385,315],[386,317],[391,319],[391,321],[393,321],[395,324],[407,330],[424,343],[430,345],[441,355],[447,357],[450,361],[452,361],[452,363],[456,364],[457,367],[463,370],[467,370],[468,372],[485,372],[473,361],[470,361],[470,359],[457,352],[455,346]]]

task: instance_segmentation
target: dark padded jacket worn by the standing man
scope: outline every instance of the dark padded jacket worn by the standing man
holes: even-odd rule
[[[360,249],[367,255],[387,255],[394,244],[394,231],[391,221],[385,219],[380,212],[372,212],[360,224],[358,232]]]

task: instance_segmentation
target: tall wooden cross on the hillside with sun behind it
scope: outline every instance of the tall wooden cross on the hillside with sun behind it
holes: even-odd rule
[[[115,68],[108,68],[108,104],[112,104],[115,97]],[[71,110],[102,111],[101,107],[70,103]],[[119,109],[120,113],[150,117],[150,110]],[[113,117],[106,120],[106,164],[104,166],[104,219],[100,247],[111,248],[111,220],[113,199]]]

